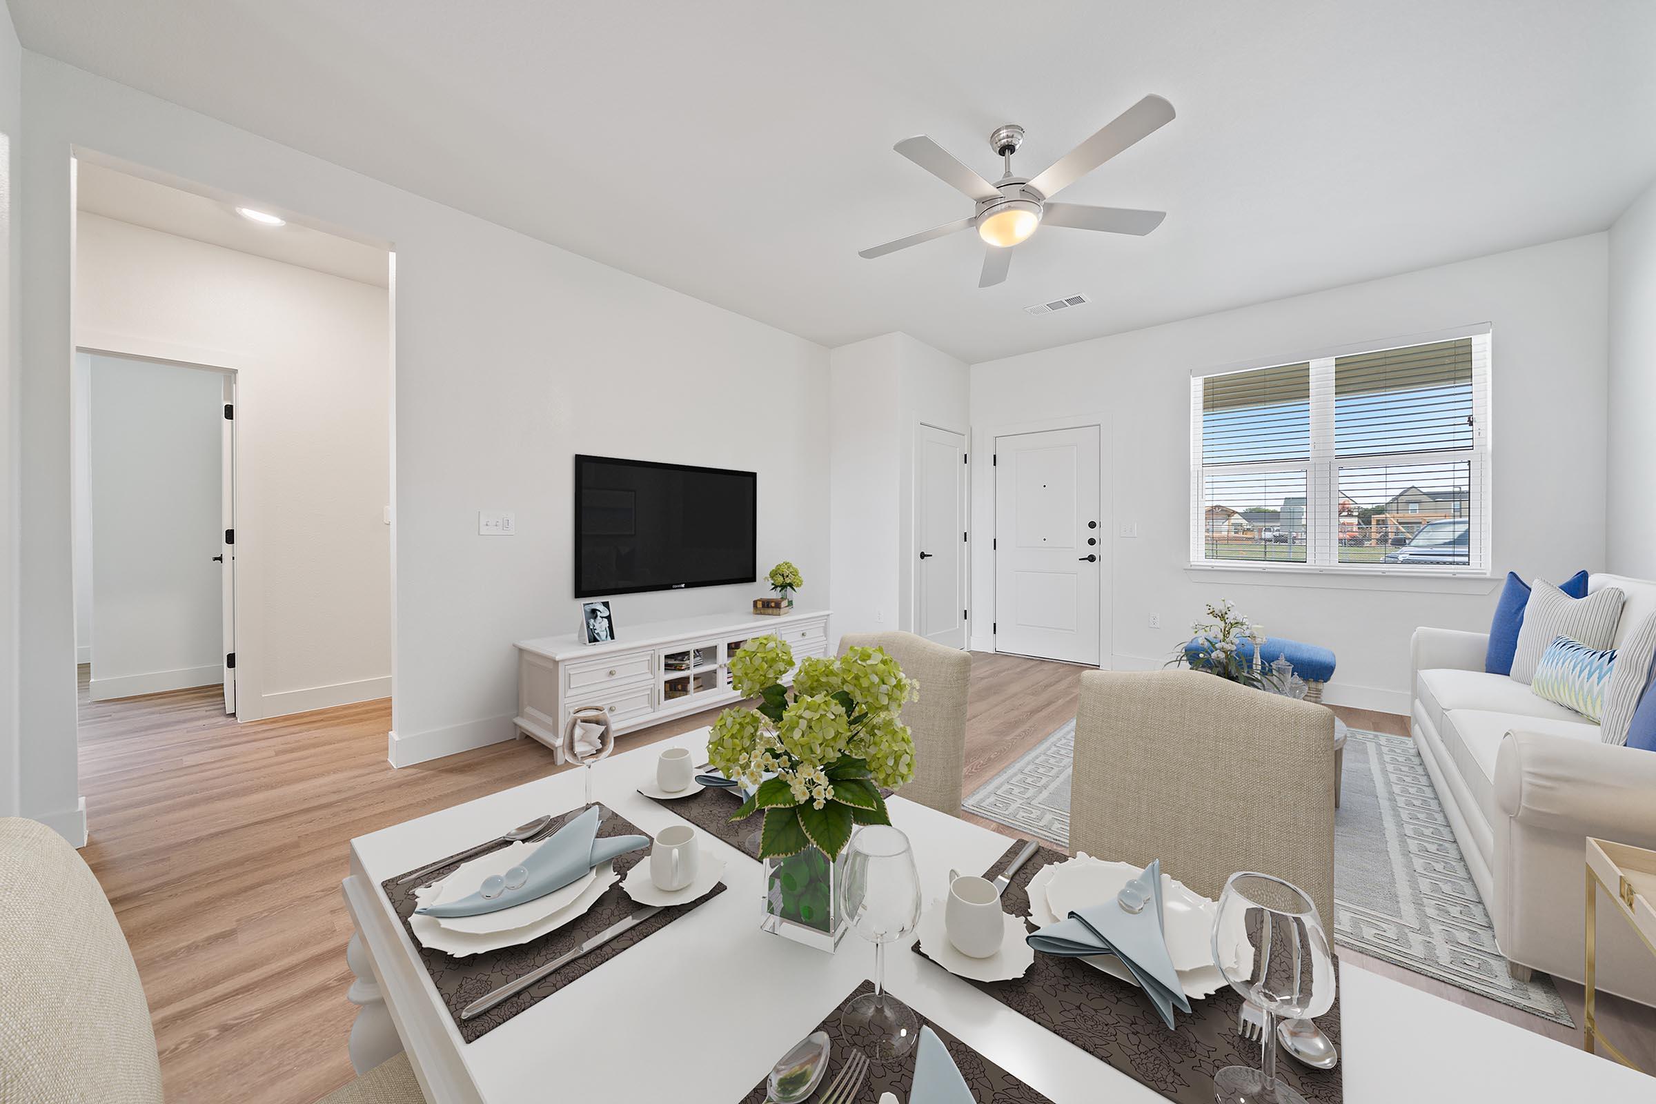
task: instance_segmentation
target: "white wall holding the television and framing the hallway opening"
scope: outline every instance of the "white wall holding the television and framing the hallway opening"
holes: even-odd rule
[[[828,583],[823,348],[38,55],[25,55],[23,755],[73,809],[70,151],[84,146],[394,245],[394,761],[512,735],[512,641],[570,631],[576,452],[758,472],[758,559]],[[479,536],[513,510],[518,536]],[[621,631],[763,583],[616,599]]]

